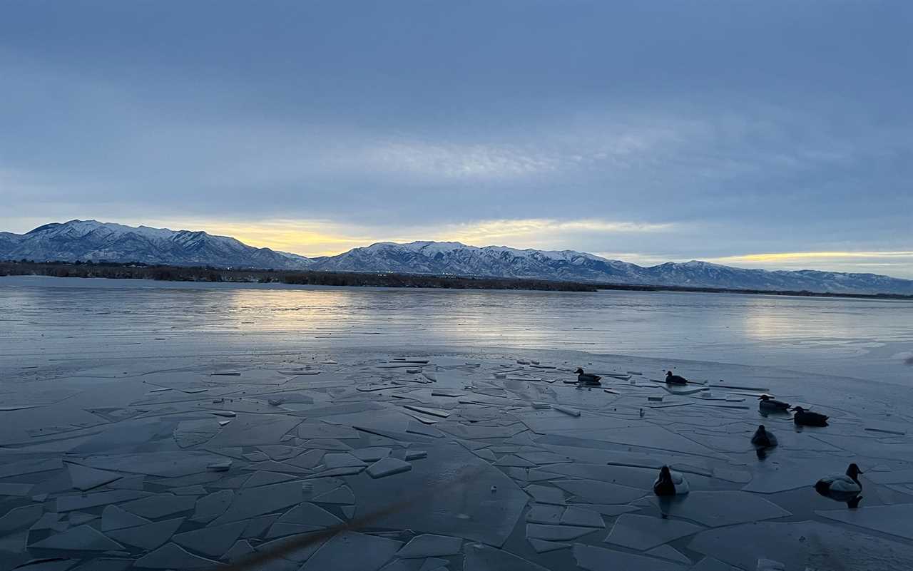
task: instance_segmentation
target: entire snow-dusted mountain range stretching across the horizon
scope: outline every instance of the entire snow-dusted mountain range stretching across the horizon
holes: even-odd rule
[[[457,242],[382,242],[353,248],[338,255],[308,258],[248,246],[235,238],[205,232],[132,227],[94,220],[49,223],[26,234],[0,233],[0,260],[20,259],[913,295],[913,280],[887,275],[816,270],[767,271],[698,261],[641,266],[572,250],[519,250],[504,246],[476,247]]]

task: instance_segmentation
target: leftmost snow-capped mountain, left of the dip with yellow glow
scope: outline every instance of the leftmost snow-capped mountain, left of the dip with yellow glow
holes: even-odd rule
[[[95,220],[50,223],[27,234],[0,234],[0,258],[282,269],[310,263],[303,256],[254,248],[226,236]]]

